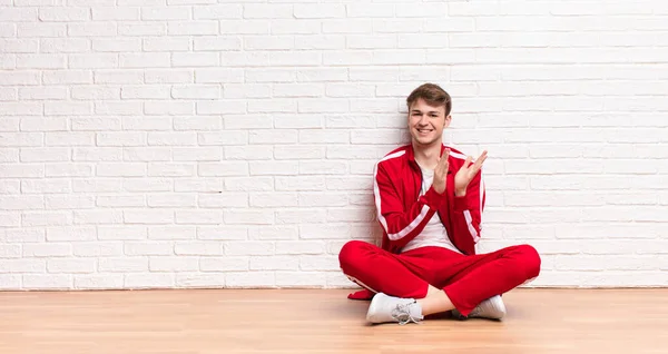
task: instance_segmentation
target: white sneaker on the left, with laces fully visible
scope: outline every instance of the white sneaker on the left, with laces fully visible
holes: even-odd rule
[[[422,307],[414,298],[402,298],[377,293],[369,305],[366,321],[371,323],[399,322],[404,325],[409,322],[418,323],[424,318]]]

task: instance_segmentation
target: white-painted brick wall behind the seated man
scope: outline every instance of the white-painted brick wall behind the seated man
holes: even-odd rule
[[[346,287],[405,96],[488,149],[480,250],[668,285],[668,7],[0,1],[0,289]]]

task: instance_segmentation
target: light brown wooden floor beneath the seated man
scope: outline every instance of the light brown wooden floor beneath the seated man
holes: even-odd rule
[[[0,293],[0,353],[668,353],[668,289],[515,289],[503,322],[405,326],[346,294]]]

